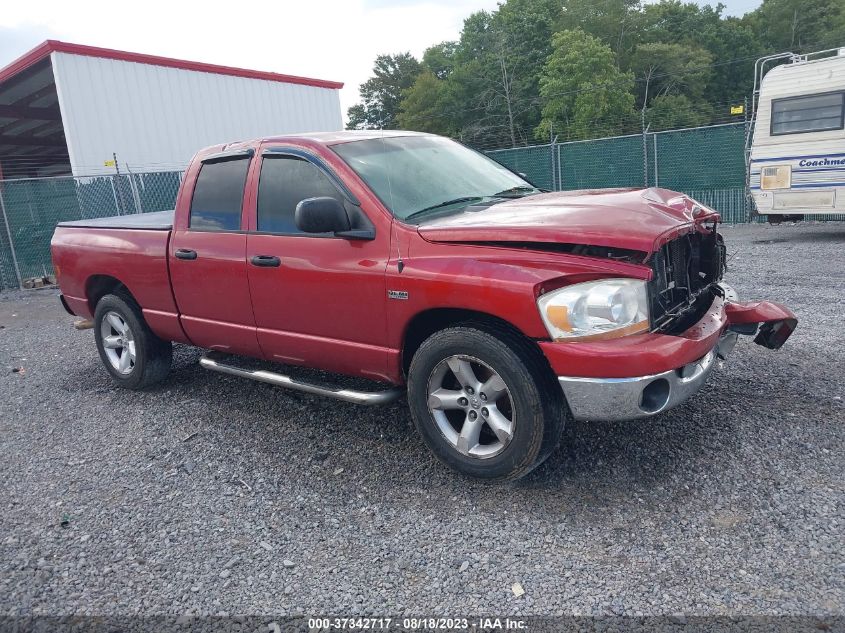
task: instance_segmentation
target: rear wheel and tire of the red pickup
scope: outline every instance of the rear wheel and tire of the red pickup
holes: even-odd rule
[[[172,344],[153,334],[141,308],[127,295],[100,299],[94,311],[94,339],[100,360],[124,389],[146,389],[170,373]]]

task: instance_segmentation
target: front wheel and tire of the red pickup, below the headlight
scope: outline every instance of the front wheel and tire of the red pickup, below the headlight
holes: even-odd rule
[[[468,390],[473,378],[476,387]],[[485,406],[491,399],[493,406]],[[541,352],[513,331],[477,323],[423,342],[408,372],[408,402],[438,459],[489,480],[518,479],[539,466],[557,447],[568,417]]]

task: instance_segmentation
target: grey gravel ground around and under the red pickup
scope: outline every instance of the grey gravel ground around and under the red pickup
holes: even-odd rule
[[[121,391],[55,290],[0,295],[0,615],[841,614],[845,225],[724,234],[740,295],[798,314],[786,347],[741,342],[654,419],[575,423],[507,485],[435,462],[404,402],[192,348]]]

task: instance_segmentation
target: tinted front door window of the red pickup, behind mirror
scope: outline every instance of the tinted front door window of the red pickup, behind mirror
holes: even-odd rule
[[[265,156],[258,181],[258,230],[299,233],[296,205],[321,196],[343,202],[340,192],[313,163],[294,156]]]

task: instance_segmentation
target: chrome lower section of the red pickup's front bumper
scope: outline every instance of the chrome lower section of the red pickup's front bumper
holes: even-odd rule
[[[717,358],[726,358],[738,335],[725,332],[719,344],[694,363],[651,376],[569,378],[561,389],[576,420],[634,420],[657,415],[692,396],[706,382]]]

